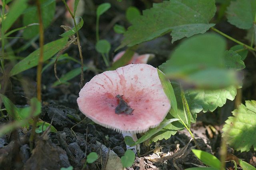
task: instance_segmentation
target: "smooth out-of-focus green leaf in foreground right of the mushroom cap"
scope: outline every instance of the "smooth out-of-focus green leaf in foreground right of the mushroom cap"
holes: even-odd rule
[[[218,89],[238,84],[235,72],[225,68],[225,47],[225,40],[217,34],[196,35],[180,43],[159,68],[182,86]]]

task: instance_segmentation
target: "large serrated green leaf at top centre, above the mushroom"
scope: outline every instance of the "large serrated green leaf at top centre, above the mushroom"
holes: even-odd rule
[[[153,4],[142,16],[132,20],[118,47],[134,46],[172,31],[172,42],[204,33],[214,24],[209,21],[216,11],[214,0],[170,0]]]

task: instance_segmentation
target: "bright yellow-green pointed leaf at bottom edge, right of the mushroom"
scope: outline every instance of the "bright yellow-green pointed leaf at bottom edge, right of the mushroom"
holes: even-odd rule
[[[202,150],[193,149],[192,152],[200,159],[204,164],[220,170],[221,162],[214,155]]]

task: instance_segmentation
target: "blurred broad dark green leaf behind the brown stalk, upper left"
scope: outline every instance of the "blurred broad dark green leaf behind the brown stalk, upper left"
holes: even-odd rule
[[[55,13],[56,0],[40,0],[41,2],[41,11],[42,11],[42,20],[44,28],[48,27],[52,22]],[[23,26],[39,23],[38,21],[38,12],[36,6],[28,8],[23,16]],[[33,38],[39,32],[39,26],[34,25],[24,29],[23,36],[26,39]]]

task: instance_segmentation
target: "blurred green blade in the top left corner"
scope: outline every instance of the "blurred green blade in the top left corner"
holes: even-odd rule
[[[12,26],[12,24],[19,18],[22,12],[27,8],[27,1],[28,0],[16,0],[12,2],[10,11],[2,22],[2,29],[4,32]]]

